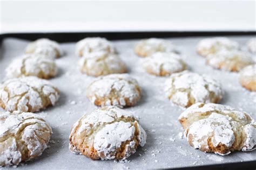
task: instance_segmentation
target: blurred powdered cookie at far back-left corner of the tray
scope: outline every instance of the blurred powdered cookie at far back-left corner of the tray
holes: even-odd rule
[[[63,55],[63,50],[60,48],[58,42],[47,38],[40,38],[29,43],[25,52],[29,54],[44,54],[45,56],[49,56],[51,58],[59,58]]]

